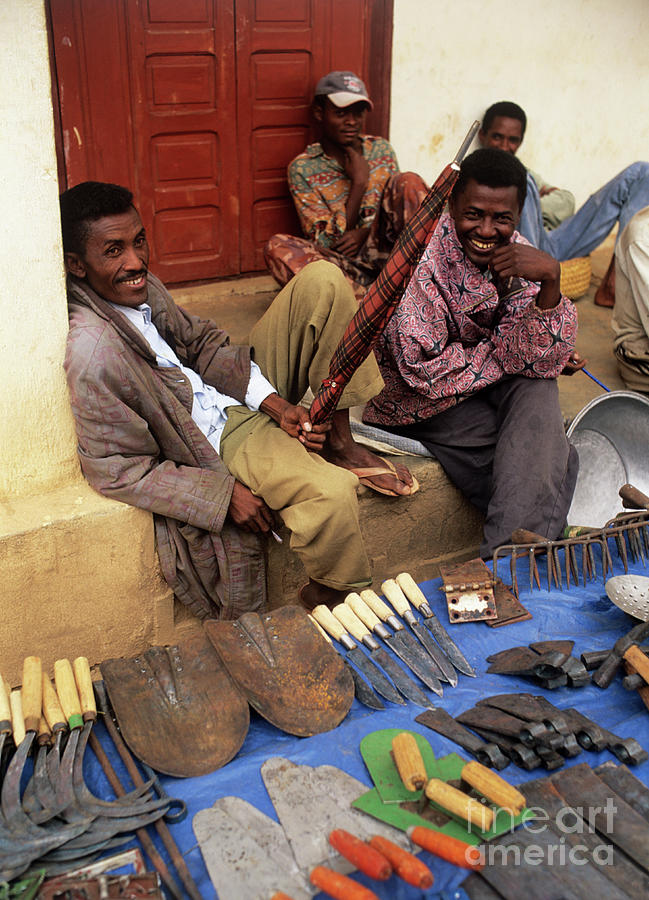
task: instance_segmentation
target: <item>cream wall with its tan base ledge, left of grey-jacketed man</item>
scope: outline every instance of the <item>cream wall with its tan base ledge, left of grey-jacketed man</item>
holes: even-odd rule
[[[0,85],[0,673],[15,685],[27,655],[50,673],[96,663],[169,640],[174,621],[151,516],[79,469],[43,0],[1,0]]]

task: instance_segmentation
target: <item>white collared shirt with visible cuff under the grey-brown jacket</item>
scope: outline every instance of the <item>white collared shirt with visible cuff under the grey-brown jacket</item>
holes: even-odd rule
[[[126,316],[129,322],[137,328],[155,353],[156,362],[161,368],[176,366],[189,379],[194,393],[192,419],[218,453],[221,435],[227,421],[225,410],[228,406],[240,406],[240,402],[227,394],[221,394],[211,384],[205,384],[200,375],[180,362],[176,353],[161,337],[158,329],[153,324],[151,307],[147,303],[141,303],[137,309],[130,306],[120,306],[118,303],[111,303],[110,305],[123,316]],[[274,393],[276,393],[275,388],[262,375],[259,366],[251,360],[250,381],[248,382],[244,404],[248,409],[256,411],[266,397]]]

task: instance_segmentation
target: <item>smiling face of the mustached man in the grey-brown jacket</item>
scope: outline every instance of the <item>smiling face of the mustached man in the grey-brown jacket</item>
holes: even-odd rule
[[[111,303],[133,308],[147,298],[149,245],[137,210],[88,223],[83,253],[67,253],[68,271]]]

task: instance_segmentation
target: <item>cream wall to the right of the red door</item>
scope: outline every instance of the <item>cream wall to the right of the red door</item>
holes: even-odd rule
[[[496,100],[526,111],[521,159],[583,203],[649,159],[648,0],[394,0],[390,139],[433,180]]]

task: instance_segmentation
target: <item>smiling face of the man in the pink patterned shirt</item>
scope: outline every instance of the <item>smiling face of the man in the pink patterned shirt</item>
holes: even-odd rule
[[[513,185],[491,188],[471,179],[451,197],[449,210],[466,256],[484,269],[496,247],[511,240],[520,216],[518,192]]]

